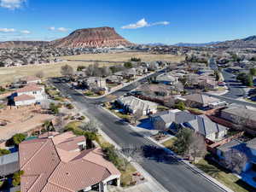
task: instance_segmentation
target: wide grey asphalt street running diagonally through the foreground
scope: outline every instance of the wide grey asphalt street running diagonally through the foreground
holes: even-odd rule
[[[78,108],[81,109],[90,119],[96,119],[102,126],[108,137],[112,138],[115,143],[128,145],[133,144],[137,147],[147,148],[145,157],[141,166],[151,174],[159,183],[161,183],[170,192],[217,192],[222,191],[217,186],[201,177],[198,173],[190,170],[188,166],[178,161],[175,157],[161,148],[155,152],[157,146],[147,138],[142,137],[137,132],[131,130],[128,125],[119,122],[110,113],[96,106],[95,100],[86,99],[76,90],[71,90],[67,84],[54,83],[61,90],[62,94],[70,95]],[[131,84],[122,90],[113,94],[119,96],[124,92],[134,88]],[[98,102],[103,102],[107,97],[103,97]],[[159,152],[159,150],[161,152]],[[149,151],[149,153],[147,153]]]

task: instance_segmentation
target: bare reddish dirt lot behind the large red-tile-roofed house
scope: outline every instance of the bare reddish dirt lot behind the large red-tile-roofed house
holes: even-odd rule
[[[0,126],[0,140],[9,139],[15,133],[26,132],[42,125],[44,120],[52,119],[50,114],[38,113],[35,107],[20,107],[0,110],[0,120],[7,125]]]

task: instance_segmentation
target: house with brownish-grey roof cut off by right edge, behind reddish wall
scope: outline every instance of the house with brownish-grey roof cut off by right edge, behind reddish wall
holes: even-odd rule
[[[221,111],[220,117],[235,124],[246,125],[254,129],[256,127],[256,108],[231,104]]]

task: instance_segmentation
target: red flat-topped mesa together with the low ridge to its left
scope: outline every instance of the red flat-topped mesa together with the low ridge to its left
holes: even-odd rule
[[[132,44],[115,32],[113,27],[78,29],[65,38],[47,41],[6,41],[0,42],[0,49],[51,46],[54,48],[102,48],[131,46]]]

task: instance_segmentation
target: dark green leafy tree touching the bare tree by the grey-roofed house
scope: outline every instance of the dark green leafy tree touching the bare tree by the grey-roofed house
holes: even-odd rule
[[[181,128],[177,132],[177,140],[173,143],[172,150],[177,154],[186,154],[189,146],[192,143],[193,131],[189,128]]]

